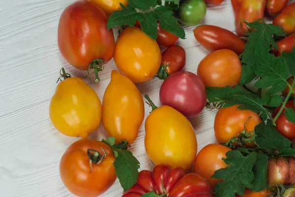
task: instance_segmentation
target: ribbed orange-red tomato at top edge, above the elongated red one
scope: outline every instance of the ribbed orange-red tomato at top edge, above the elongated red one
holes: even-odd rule
[[[254,22],[264,17],[266,0],[232,0],[233,10],[236,18],[236,33],[244,36],[247,22]],[[242,26],[240,26],[242,24]]]

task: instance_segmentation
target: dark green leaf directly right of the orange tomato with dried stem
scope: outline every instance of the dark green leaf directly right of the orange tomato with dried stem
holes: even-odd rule
[[[261,122],[254,129],[255,143],[264,150],[283,150],[291,147],[291,141],[281,135],[272,123],[268,120],[267,124]]]

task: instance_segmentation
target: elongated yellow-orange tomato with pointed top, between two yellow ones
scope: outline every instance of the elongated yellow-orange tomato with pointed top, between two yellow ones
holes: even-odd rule
[[[122,140],[133,143],[144,116],[144,100],[137,87],[113,70],[102,100],[102,124],[109,136],[115,137],[116,143]]]

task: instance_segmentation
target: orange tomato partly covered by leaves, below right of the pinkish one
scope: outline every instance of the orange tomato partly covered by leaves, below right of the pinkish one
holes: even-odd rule
[[[226,143],[241,131],[253,132],[256,125],[261,123],[259,115],[251,110],[240,110],[233,105],[218,110],[214,121],[214,132],[218,143]],[[251,117],[251,118],[250,118]]]

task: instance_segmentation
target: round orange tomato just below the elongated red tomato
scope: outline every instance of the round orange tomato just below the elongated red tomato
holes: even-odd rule
[[[221,49],[208,54],[200,62],[197,73],[205,86],[234,87],[241,78],[242,66],[234,51]]]

